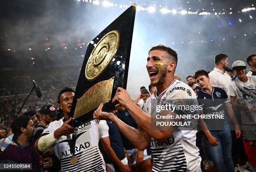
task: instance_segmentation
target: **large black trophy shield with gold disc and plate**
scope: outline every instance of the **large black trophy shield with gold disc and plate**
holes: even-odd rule
[[[93,120],[93,112],[115,109],[118,87],[126,89],[136,4],[133,4],[87,45],[69,117],[71,125]]]

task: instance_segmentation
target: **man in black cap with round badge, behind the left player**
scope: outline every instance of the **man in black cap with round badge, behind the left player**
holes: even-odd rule
[[[39,110],[40,112],[40,118],[41,122],[36,125],[36,130],[34,131],[34,139],[37,140],[47,125],[50,124],[50,122],[56,120],[55,112],[56,108],[54,105],[44,105]]]

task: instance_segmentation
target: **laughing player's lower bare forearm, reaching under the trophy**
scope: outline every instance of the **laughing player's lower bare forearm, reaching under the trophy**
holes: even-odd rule
[[[111,118],[111,121],[118,127],[120,132],[130,140],[130,142],[139,150],[144,150],[147,145],[149,144],[150,138],[144,138],[140,131],[136,130],[135,128],[125,124],[121,121],[118,117]]]

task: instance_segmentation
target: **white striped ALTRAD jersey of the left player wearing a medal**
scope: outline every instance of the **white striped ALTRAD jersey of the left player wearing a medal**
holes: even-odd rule
[[[46,129],[44,129],[43,135],[47,135],[57,130],[63,125],[63,120],[51,122]],[[98,131],[98,120],[92,120],[86,122],[77,127],[77,139],[75,142],[75,156],[78,161],[75,165],[72,165],[70,158],[73,156],[70,152],[70,147],[67,141],[67,136],[61,136],[54,145],[54,152],[56,157],[61,162],[61,170],[63,172],[106,172],[105,162],[102,154],[99,150],[99,139],[106,137],[108,133],[101,133]],[[72,134],[70,135],[72,138]]]

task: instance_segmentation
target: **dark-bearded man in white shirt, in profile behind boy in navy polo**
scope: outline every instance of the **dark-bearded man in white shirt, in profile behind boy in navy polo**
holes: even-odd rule
[[[217,54],[214,57],[215,67],[209,73],[210,83],[212,87],[219,87],[228,92],[228,84],[231,77],[228,75],[228,56],[225,54]]]

